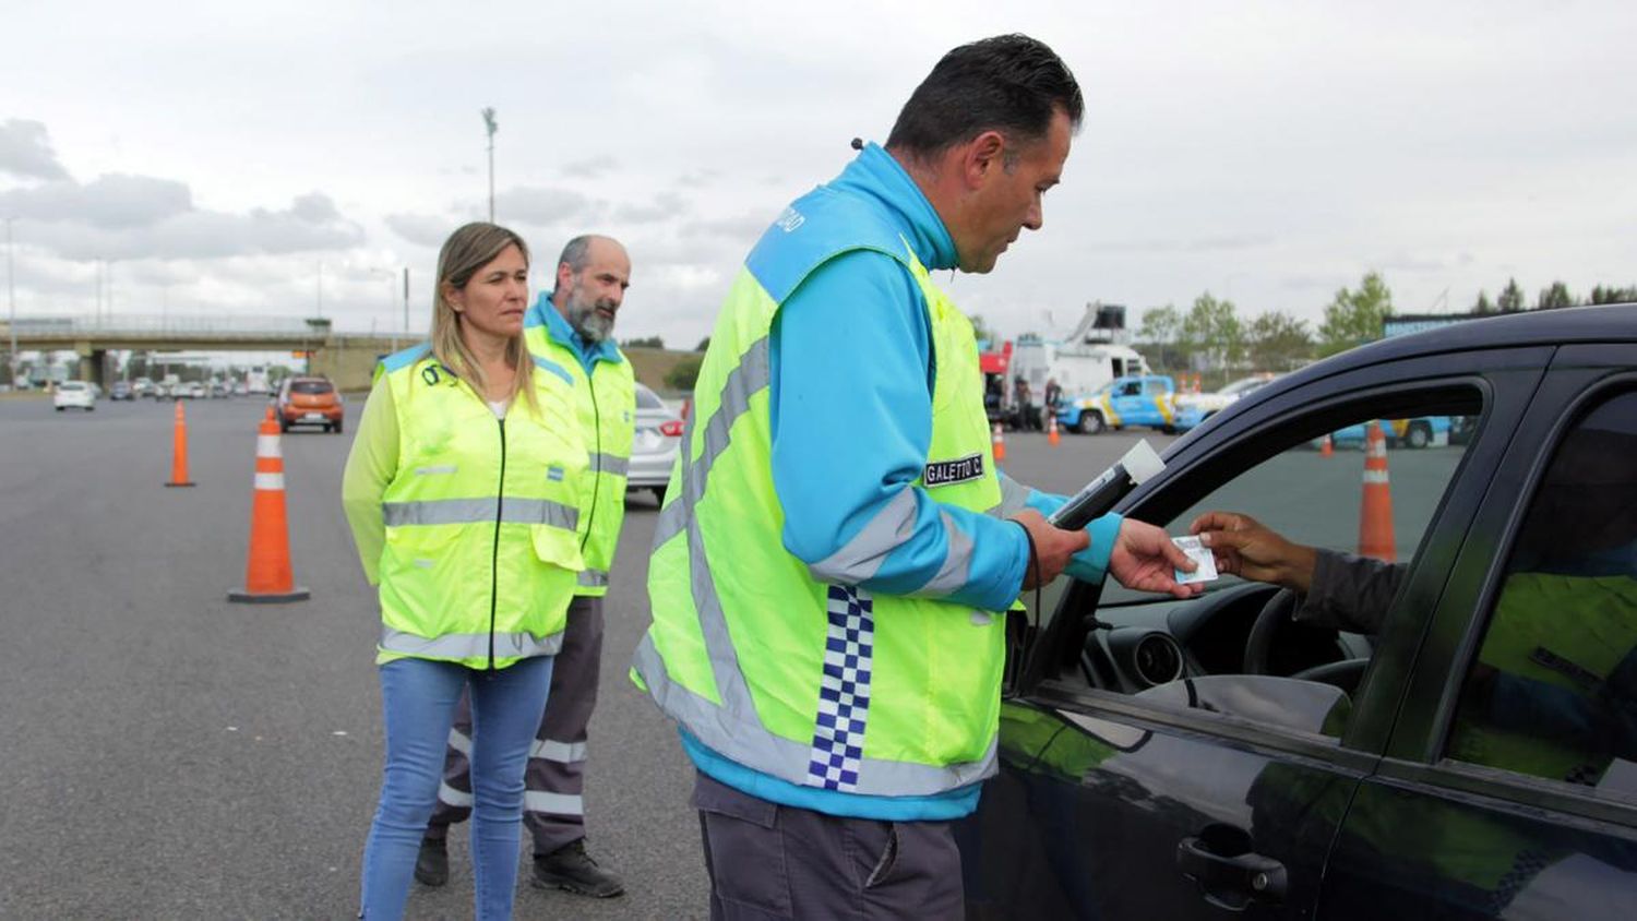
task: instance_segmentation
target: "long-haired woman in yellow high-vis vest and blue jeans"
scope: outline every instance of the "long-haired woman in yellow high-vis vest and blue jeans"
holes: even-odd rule
[[[432,342],[377,368],[342,504],[380,586],[386,767],[362,918],[399,918],[462,690],[476,916],[509,918],[529,746],[583,563],[586,448],[566,373],[524,345],[529,250],[467,224],[439,254]]]

